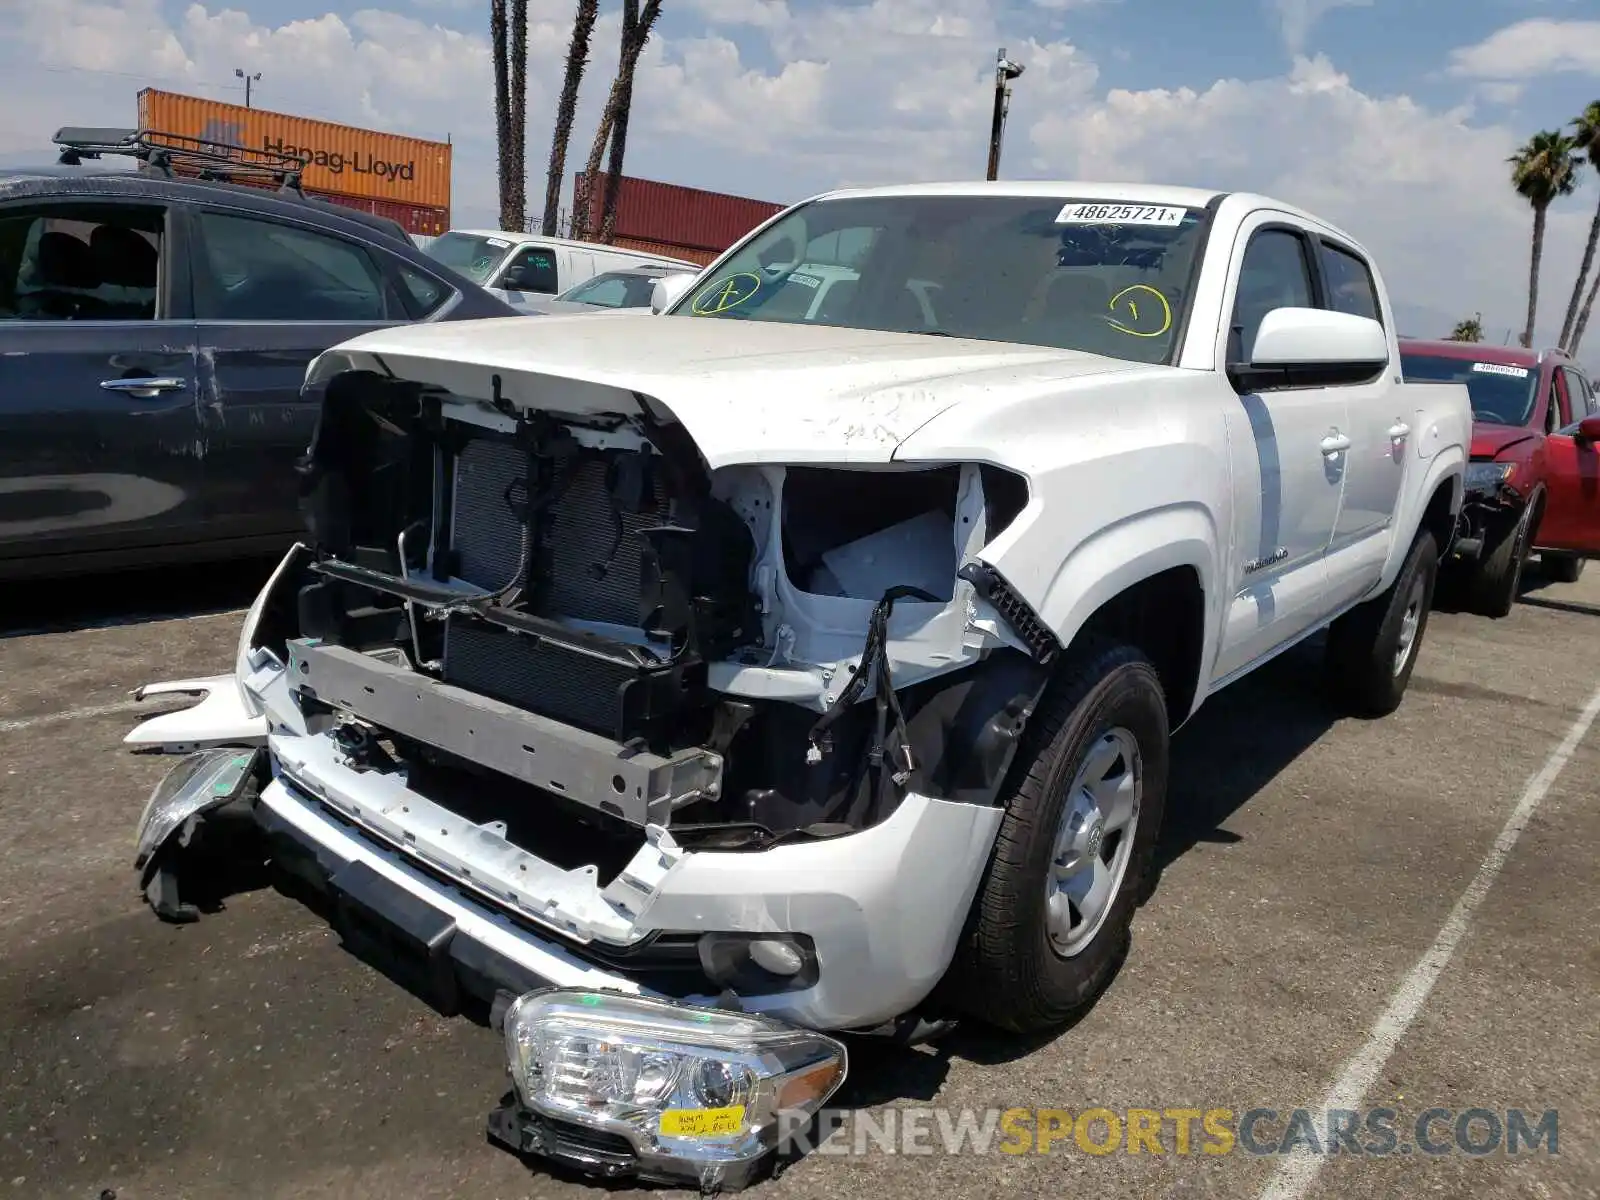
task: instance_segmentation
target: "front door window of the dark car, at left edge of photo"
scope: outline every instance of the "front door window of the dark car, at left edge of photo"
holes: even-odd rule
[[[165,210],[38,205],[0,214],[0,320],[155,320]]]

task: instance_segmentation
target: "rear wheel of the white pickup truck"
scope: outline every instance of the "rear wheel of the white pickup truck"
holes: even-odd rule
[[[1362,717],[1387,717],[1400,707],[1422,650],[1437,579],[1438,542],[1422,530],[1389,590],[1357,605],[1328,629],[1323,664],[1330,691],[1342,707]],[[1414,630],[1400,661],[1408,613]]]

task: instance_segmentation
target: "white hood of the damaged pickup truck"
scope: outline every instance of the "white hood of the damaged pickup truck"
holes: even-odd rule
[[[1150,370],[1013,342],[653,315],[394,326],[328,350],[307,382],[347,366],[474,400],[490,400],[498,378],[501,397],[517,408],[573,416],[634,414],[635,395],[645,395],[685,426],[712,470],[886,462],[952,405],[994,403],[1024,381]]]

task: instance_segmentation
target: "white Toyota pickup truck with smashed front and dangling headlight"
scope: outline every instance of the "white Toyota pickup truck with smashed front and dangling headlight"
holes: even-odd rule
[[[496,1139],[731,1187],[840,1032],[1107,984],[1208,696],[1326,629],[1334,693],[1400,702],[1472,418],[1259,195],[834,192],[656,309],[314,363],[310,536],[230,675],[146,690],[203,699],[128,738],[189,755],[138,869],[182,920],[270,859],[488,1006]]]

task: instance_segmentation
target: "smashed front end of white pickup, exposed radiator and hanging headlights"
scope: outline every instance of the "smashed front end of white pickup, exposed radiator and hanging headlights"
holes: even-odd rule
[[[645,386],[419,363],[314,366],[310,536],[226,730],[130,736],[192,752],[141,886],[192,918],[208,821],[246,821],[352,949],[491,1014],[496,1141],[739,1186],[837,1090],[837,1034],[941,1016],[1058,651],[981,557],[1027,482],[848,430],[712,462]]]

